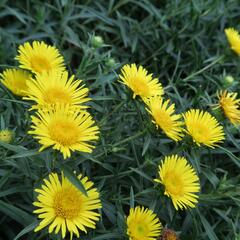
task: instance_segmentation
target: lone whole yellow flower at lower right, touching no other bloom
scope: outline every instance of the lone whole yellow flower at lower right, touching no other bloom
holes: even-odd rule
[[[186,158],[172,155],[164,158],[159,165],[159,179],[156,182],[165,187],[165,193],[172,199],[176,210],[194,208],[200,191],[199,178]]]

